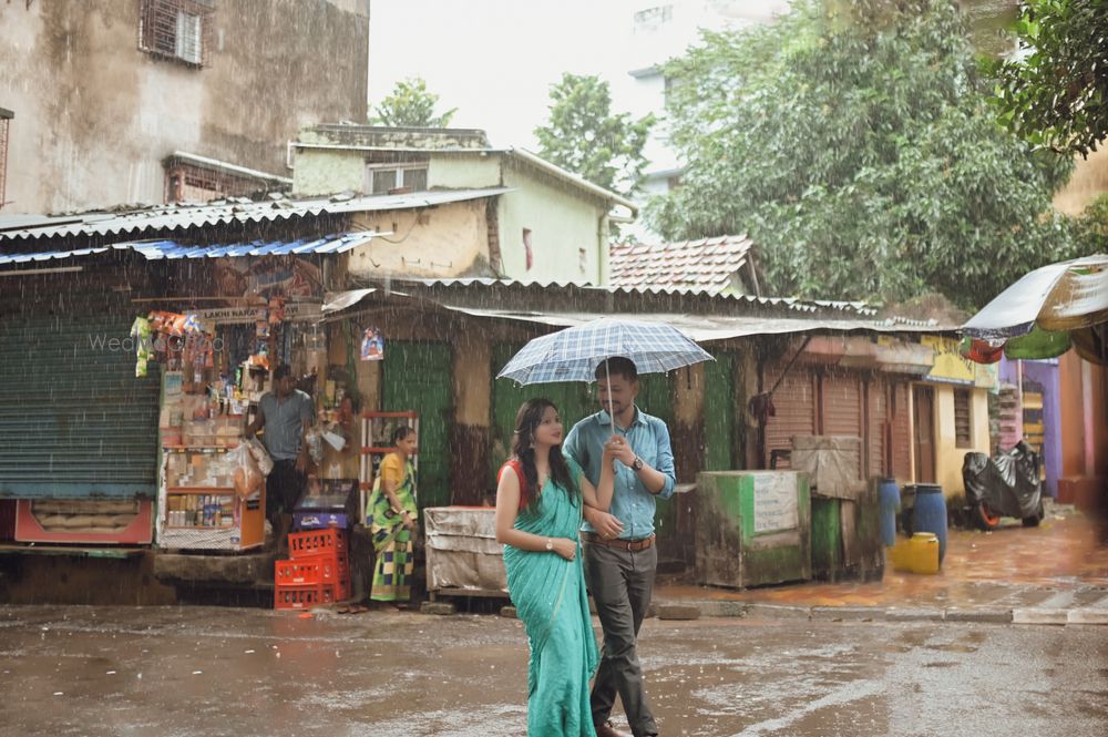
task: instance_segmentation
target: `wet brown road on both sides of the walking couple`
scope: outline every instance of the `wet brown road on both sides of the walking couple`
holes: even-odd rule
[[[645,624],[664,735],[1108,734],[1098,627]],[[0,607],[0,734],[522,735],[526,645],[496,616]]]

